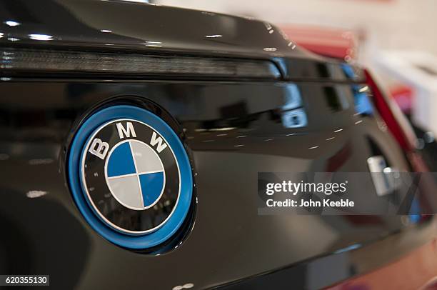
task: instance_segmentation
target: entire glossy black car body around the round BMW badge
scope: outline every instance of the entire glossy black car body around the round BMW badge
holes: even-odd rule
[[[374,155],[417,170],[376,106],[357,111],[364,72],[271,24],[83,0],[1,0],[0,21],[0,274],[49,274],[56,289],[318,289],[435,236],[433,219],[257,214],[258,172],[368,171]],[[161,111],[189,151],[196,198],[176,244],[111,244],[71,197],[71,139],[110,102]]]

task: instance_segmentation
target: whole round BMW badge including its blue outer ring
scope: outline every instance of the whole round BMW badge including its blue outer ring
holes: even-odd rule
[[[72,141],[69,181],[89,224],[127,248],[168,240],[190,209],[184,145],[163,119],[137,106],[109,106],[84,121]]]

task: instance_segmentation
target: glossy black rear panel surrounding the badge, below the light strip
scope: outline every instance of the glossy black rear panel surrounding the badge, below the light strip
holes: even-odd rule
[[[0,213],[3,228],[13,229],[14,236],[2,243],[14,242],[2,246],[11,258],[3,260],[1,272],[50,273],[53,285],[67,288],[146,283],[171,289],[188,282],[205,288],[361,247],[404,229],[399,216],[257,215],[258,171],[366,171],[373,154],[366,138],[376,140],[393,166],[408,169],[393,138],[373,118],[353,116],[352,93],[346,95],[347,109],[333,111],[324,88],[347,89],[344,84],[298,84],[308,126],[285,128],[280,114],[291,85],[3,82],[1,96],[9,97],[0,100]],[[98,236],[76,209],[64,179],[63,151],[74,122],[120,94],[166,108],[184,128],[192,153],[196,224],[184,244],[162,256],[121,249]],[[334,135],[338,128],[343,131]],[[326,141],[331,136],[336,138]],[[46,194],[29,199],[38,191]],[[71,270],[61,271],[66,261]]]

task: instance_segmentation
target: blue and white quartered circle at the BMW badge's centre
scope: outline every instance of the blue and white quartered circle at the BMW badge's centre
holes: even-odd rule
[[[124,206],[141,210],[161,196],[164,167],[155,151],[143,142],[129,140],[117,144],[106,166],[111,194]]]

